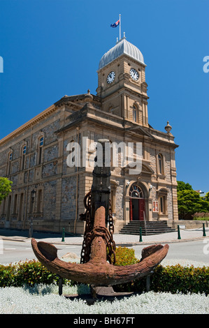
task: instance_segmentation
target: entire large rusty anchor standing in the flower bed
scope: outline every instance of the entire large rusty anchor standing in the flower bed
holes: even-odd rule
[[[110,142],[99,140],[99,143],[104,155]],[[100,166],[96,163],[95,158],[92,190],[85,196],[86,211],[81,215],[86,225],[80,264],[60,260],[55,246],[31,239],[36,258],[48,270],[62,278],[94,286],[113,286],[149,276],[154,267],[166,257],[169,246],[155,244],[145,247],[140,262],[127,266],[114,265],[114,227],[109,201],[110,165],[105,165],[104,160]]]

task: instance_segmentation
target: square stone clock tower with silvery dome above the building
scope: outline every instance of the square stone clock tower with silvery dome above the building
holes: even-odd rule
[[[145,67],[143,54],[125,36],[103,55],[96,89],[103,111],[148,127]]]

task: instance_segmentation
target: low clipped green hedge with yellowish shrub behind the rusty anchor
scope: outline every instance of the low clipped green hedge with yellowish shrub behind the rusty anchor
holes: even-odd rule
[[[117,247],[115,265],[130,265],[139,262],[133,248]],[[21,287],[44,283],[58,283],[57,274],[52,274],[43,264],[36,260],[18,262],[17,264],[0,264],[0,287]],[[64,284],[75,285],[74,281],[63,279]],[[146,277],[131,283],[115,285],[115,292],[145,292]],[[150,290],[154,292],[182,292],[183,294],[209,294],[209,267],[184,267],[180,264],[163,267],[161,264],[154,269],[150,277]]]

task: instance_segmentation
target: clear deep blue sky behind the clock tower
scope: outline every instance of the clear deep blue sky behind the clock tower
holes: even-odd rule
[[[0,139],[64,95],[96,94],[119,14],[147,64],[149,123],[170,122],[178,180],[209,191],[208,0],[0,0]]]

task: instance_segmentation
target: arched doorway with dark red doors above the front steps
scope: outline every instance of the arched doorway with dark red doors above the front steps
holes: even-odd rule
[[[138,184],[132,184],[129,189],[130,221],[143,221],[145,217],[145,198]]]

